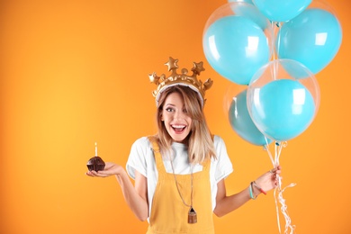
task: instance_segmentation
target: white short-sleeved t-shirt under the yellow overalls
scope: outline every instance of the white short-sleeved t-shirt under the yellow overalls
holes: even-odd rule
[[[226,178],[233,172],[233,166],[228,157],[227,148],[223,139],[214,136],[214,148],[216,149],[217,159],[211,159],[210,183],[211,183],[211,201],[212,211],[216,207],[217,183]],[[174,142],[172,149],[175,152],[173,156],[173,166],[176,175],[187,175],[191,173],[187,148],[182,143]],[[173,173],[172,166],[167,157],[163,158],[164,166],[167,173]],[[135,179],[135,170],[148,180],[148,209],[151,213],[152,198],[155,193],[157,184],[157,166],[155,163],[152,145],[147,137],[137,139],[130,149],[130,157],[127,161],[127,173]],[[193,172],[202,171],[202,166],[197,164],[193,166]]]

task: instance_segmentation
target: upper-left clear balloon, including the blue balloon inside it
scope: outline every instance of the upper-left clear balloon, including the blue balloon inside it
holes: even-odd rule
[[[272,27],[253,4],[232,2],[209,17],[202,35],[206,59],[220,76],[248,85],[271,56]]]

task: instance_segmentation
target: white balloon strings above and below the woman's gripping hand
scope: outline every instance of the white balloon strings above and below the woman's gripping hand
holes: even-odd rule
[[[266,139],[266,146],[265,146],[265,148],[266,148],[266,151],[268,153],[268,156],[270,157],[273,166],[275,166],[275,167],[279,166],[279,157],[281,155],[282,149],[287,146],[287,142],[286,141],[285,142],[278,142],[278,141],[275,142],[275,158],[273,158],[272,153],[269,150],[269,146],[268,145],[269,145],[268,144],[268,140]],[[281,204],[281,211],[282,211],[282,214],[283,214],[284,220],[285,220],[284,233],[285,234],[288,233],[288,231],[290,229],[290,234],[293,234],[293,230],[296,228],[296,226],[292,225],[292,220],[291,220],[291,218],[289,216],[288,206],[285,203],[285,199],[283,197],[283,193],[284,193],[286,188],[293,187],[296,184],[295,183],[289,184],[289,185],[285,186],[282,189],[282,177],[280,175],[276,175],[276,176],[277,176],[277,179],[278,179],[278,186],[275,188],[274,196],[275,196],[276,220],[277,220],[277,223],[278,223],[279,233],[282,233],[281,232],[281,227],[280,227],[280,218],[279,218],[280,217],[280,215],[279,215],[279,203],[280,203]]]

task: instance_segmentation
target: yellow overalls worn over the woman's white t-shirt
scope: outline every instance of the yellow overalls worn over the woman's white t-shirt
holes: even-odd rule
[[[152,143],[157,165],[158,180],[152,202],[147,234],[152,233],[198,233],[213,234],[211,207],[210,166],[211,160],[202,165],[202,171],[193,173],[193,209],[197,222],[188,223],[191,203],[191,175],[176,175],[176,181],[184,202],[175,185],[175,176],[166,173],[157,140],[148,138]]]

